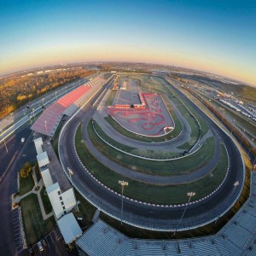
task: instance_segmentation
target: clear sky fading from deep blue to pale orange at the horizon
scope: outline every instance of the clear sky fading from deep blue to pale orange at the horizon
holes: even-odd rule
[[[256,84],[256,1],[1,1],[0,73],[147,61]]]

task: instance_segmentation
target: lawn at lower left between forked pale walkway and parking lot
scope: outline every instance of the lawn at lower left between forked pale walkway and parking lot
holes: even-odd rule
[[[38,196],[31,194],[20,201],[24,230],[28,246],[41,239],[55,226],[55,218],[52,216],[43,220],[38,203]]]

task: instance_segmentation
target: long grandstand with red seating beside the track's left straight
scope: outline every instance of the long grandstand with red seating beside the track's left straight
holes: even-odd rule
[[[75,90],[61,97],[55,103],[44,110],[44,113],[32,125],[32,131],[54,137],[55,131],[64,115],[71,116],[79,106],[88,98],[99,86],[106,83],[106,75],[98,75],[90,79],[85,84],[80,85]],[[95,88],[95,90],[93,89]]]

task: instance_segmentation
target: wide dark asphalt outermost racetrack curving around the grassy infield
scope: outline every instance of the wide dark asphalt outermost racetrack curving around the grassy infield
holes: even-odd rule
[[[178,91],[177,93],[183,96]],[[74,171],[74,186],[82,191],[83,195],[103,212],[115,218],[120,218],[120,196],[105,189],[84,171],[73,148],[73,134],[75,128],[82,119],[86,119],[86,117],[90,116],[90,114],[95,111],[90,104],[91,102],[95,102],[96,98],[97,96],[77,113],[72,121],[63,129],[59,145],[60,157],[65,169],[67,170],[67,167],[70,167]],[[191,104],[194,105],[193,103]],[[218,216],[229,209],[230,204],[236,200],[236,196],[240,193],[240,188],[238,187],[234,190],[233,184],[236,181],[239,181],[241,184],[244,177],[241,155],[233,141],[219,129],[218,125],[215,125],[211,119],[208,119],[199,108],[195,107],[195,110],[207,119],[212,128],[218,132],[219,136],[224,141],[230,155],[230,173],[224,185],[218,189],[217,193],[205,201],[189,205],[180,227],[191,227],[210,221],[212,218],[218,218]],[[151,229],[174,230],[177,227],[177,220],[183,214],[183,209],[184,207],[153,207],[124,199],[123,218],[127,223],[133,223],[142,227],[147,226],[147,228]]]

